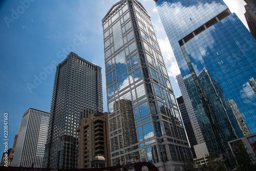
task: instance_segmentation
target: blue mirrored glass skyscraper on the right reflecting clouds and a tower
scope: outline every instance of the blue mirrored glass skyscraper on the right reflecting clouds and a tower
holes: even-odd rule
[[[227,158],[228,141],[256,132],[256,40],[222,0],[155,2],[208,151]]]

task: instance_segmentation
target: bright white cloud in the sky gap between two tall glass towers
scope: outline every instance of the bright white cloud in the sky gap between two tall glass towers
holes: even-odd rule
[[[170,47],[169,40],[167,37],[165,37],[164,39],[158,39],[158,43],[163,55],[163,60],[168,75],[176,79],[176,75],[180,74],[180,69],[174,56],[172,47]]]

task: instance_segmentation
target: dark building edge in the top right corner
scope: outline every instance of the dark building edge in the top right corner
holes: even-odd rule
[[[251,34],[256,38],[256,1],[244,0],[246,2],[245,8],[245,19],[250,29]]]

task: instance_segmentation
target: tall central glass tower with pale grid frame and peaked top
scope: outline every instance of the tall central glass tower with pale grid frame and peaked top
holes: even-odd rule
[[[150,15],[122,0],[102,26],[112,165],[183,169],[190,149]]]

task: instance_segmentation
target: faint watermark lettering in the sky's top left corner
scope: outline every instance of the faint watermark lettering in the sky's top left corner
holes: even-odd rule
[[[13,8],[11,9],[11,17],[8,17],[8,16],[4,17],[7,27],[9,28],[10,23],[14,23],[15,20],[17,20],[19,16],[23,14],[26,11],[26,9],[30,7],[31,3],[34,3],[35,1],[36,0],[20,0],[19,1],[20,6],[18,6],[16,10]]]

